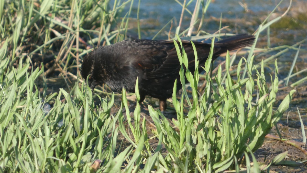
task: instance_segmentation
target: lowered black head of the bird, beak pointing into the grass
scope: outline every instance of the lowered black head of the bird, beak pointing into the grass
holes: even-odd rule
[[[97,70],[99,70],[99,68],[95,68],[95,57],[92,53],[87,54],[82,62],[81,75],[86,80],[87,76],[90,74],[88,77],[88,86],[92,91],[94,91],[95,86],[103,83],[103,81],[101,81],[102,78],[99,78],[99,71]]]

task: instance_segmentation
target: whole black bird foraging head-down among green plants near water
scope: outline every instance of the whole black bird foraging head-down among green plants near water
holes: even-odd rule
[[[253,35],[241,34],[214,43],[212,60],[227,50],[250,46]],[[199,65],[203,66],[210,51],[209,43],[194,42]],[[194,51],[190,41],[182,40],[188,57],[188,69],[195,71]],[[179,45],[180,47],[180,45]],[[177,91],[180,62],[173,40],[124,40],[110,46],[101,46],[84,57],[81,74],[84,79],[89,74],[88,85],[94,90],[96,85],[106,83],[112,91],[134,92],[136,78],[140,93],[140,103],[146,95],[160,99],[160,110],[166,108],[166,99],[173,93],[177,78]],[[200,68],[202,70],[202,68]]]

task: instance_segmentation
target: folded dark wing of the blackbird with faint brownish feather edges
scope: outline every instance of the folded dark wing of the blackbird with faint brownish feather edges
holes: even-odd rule
[[[208,58],[210,44],[201,42],[194,42],[194,44],[196,47],[198,60],[201,63],[204,63]],[[193,70],[195,69],[195,57],[191,42],[182,40],[182,45],[188,57],[188,68]],[[135,67],[143,70],[145,78],[161,78],[164,76],[177,74],[179,72],[180,62],[172,40],[160,41],[159,43],[156,42],[150,46],[150,48],[144,49],[147,52],[140,54],[143,57],[134,58],[135,61],[133,62]],[[214,46],[214,52],[219,50],[220,47],[218,45]]]

